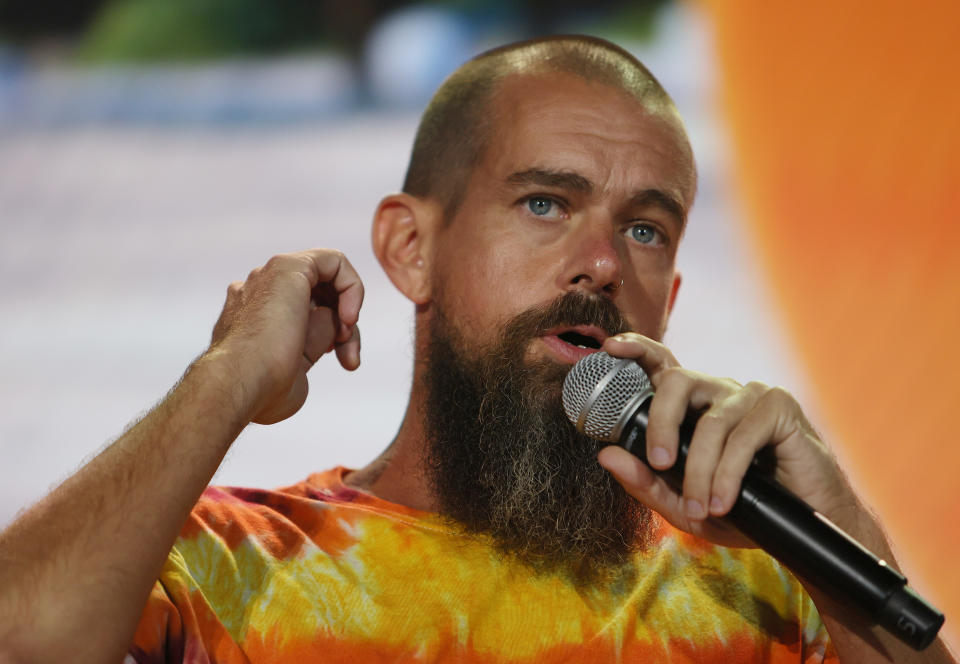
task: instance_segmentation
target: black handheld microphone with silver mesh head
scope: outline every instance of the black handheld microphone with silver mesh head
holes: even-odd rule
[[[577,362],[563,383],[563,408],[577,430],[616,443],[647,462],[650,379],[633,360],[603,352]],[[678,491],[699,413],[680,426],[677,460],[659,475]],[[649,465],[649,464],[648,464]],[[916,650],[943,625],[943,613],[907,586],[907,579],[764,472],[754,458],[740,494],[724,517],[757,546],[828,593],[858,607]]]

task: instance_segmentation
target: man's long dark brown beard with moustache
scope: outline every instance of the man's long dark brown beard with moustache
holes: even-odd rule
[[[533,339],[578,324],[627,328],[609,300],[570,293],[520,314],[491,347],[471,352],[435,311],[424,472],[441,514],[538,570],[583,582],[623,567],[651,516],[597,463],[600,445],[564,416],[569,367],[524,361]]]

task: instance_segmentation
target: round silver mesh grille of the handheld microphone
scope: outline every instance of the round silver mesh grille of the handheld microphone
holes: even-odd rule
[[[612,374],[612,375],[610,375]],[[601,384],[610,375],[605,384]],[[599,394],[595,394],[597,390]],[[563,382],[563,410],[581,433],[615,443],[614,429],[633,397],[650,389],[650,379],[633,360],[591,353],[575,365]],[[590,398],[593,403],[590,404]],[[589,407],[581,427],[583,409]]]

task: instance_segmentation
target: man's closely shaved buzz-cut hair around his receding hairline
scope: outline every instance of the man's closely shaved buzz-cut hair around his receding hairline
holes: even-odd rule
[[[574,74],[640,101],[649,114],[676,129],[677,147],[693,172],[692,152],[676,106],[646,67],[602,39],[547,37],[482,53],[440,86],[420,121],[403,191],[439,202],[446,218],[452,218],[497,122],[505,119],[495,103],[504,80],[550,73]]]

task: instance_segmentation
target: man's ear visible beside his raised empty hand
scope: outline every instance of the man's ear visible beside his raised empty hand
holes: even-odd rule
[[[409,194],[391,194],[373,216],[373,253],[390,281],[414,304],[430,301],[430,246],[439,211]]]

